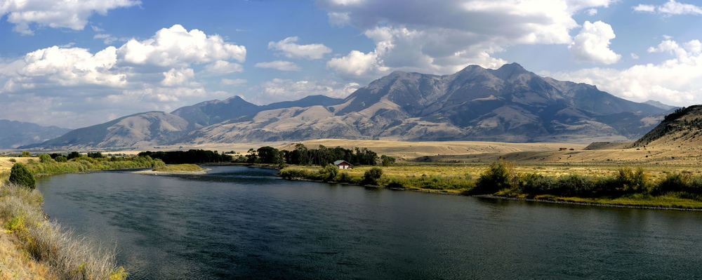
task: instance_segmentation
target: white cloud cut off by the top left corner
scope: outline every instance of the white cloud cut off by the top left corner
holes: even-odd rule
[[[141,4],[138,0],[3,0],[0,18],[15,25],[15,32],[34,34],[30,25],[82,30],[93,13],[106,15],[114,8]]]

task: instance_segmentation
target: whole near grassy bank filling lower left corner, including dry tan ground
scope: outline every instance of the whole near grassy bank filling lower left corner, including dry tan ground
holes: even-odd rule
[[[46,218],[43,196],[33,189],[0,184],[2,279],[125,279],[114,253],[62,229]],[[22,277],[20,277],[22,276]]]

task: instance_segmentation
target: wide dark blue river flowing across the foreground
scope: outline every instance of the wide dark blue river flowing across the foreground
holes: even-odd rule
[[[702,213],[280,180],[125,172],[40,178],[51,218],[117,246],[130,279],[691,279]]]

